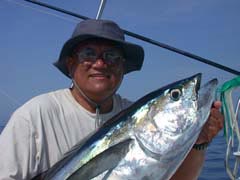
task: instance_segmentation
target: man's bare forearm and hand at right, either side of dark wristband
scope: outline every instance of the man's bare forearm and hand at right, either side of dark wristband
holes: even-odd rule
[[[210,112],[210,116],[204,125],[196,144],[211,142],[212,139],[223,128],[223,115],[219,109],[221,102],[216,101]],[[171,180],[193,180],[197,179],[204,164],[206,150],[192,149],[177,172],[173,175]]]

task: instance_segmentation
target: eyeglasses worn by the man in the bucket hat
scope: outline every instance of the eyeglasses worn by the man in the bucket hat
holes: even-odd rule
[[[81,51],[76,53],[78,56],[79,63],[95,63],[98,58],[102,58],[104,63],[110,66],[118,65],[121,62],[124,62],[124,57],[118,49],[108,49],[101,53],[97,54],[93,48],[84,48]]]

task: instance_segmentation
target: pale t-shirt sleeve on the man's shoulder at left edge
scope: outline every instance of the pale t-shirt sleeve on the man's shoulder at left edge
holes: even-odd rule
[[[36,175],[34,144],[29,121],[14,113],[0,135],[0,179],[31,179]]]

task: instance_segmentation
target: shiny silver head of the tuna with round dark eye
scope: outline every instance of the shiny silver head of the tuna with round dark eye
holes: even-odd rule
[[[139,110],[136,137],[150,156],[173,156],[176,148],[175,155],[182,151],[185,156],[194,144],[209,116],[217,80],[200,84],[201,74],[172,83],[155,91],[155,98]]]

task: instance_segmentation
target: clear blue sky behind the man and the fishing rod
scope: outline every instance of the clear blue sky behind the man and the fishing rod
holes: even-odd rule
[[[99,0],[41,0],[95,18]],[[240,71],[239,0],[108,0],[102,19],[121,28]],[[70,86],[52,63],[81,19],[24,0],[0,0],[0,124],[42,93]],[[126,36],[145,49],[140,72],[125,76],[118,93],[130,100],[202,73],[203,83],[236,75]],[[239,97],[239,91],[236,93]]]

